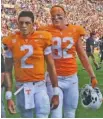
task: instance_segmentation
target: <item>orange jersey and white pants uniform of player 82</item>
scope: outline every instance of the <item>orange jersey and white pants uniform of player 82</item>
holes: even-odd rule
[[[58,77],[59,106],[51,110],[51,118],[62,118],[63,112],[64,118],[74,118],[79,99],[76,44],[85,30],[76,25],[68,25],[62,31],[53,25],[40,29],[52,34],[52,54]],[[45,73],[45,79],[49,98],[52,99],[53,88],[48,72]]]

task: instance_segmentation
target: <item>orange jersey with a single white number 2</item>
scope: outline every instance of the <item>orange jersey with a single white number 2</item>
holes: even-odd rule
[[[20,32],[3,39],[12,51],[16,81],[44,80],[44,50],[51,45],[51,34],[36,31],[24,39]]]

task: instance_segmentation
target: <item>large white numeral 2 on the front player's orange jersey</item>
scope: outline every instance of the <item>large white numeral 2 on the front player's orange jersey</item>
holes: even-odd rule
[[[28,52],[21,58],[21,68],[33,68],[33,64],[26,64],[25,61],[33,54],[32,45],[22,45],[21,51],[28,50]]]

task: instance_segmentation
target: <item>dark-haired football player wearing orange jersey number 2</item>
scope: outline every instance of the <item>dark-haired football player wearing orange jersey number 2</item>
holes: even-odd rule
[[[20,32],[10,34],[3,39],[5,50],[6,76],[10,82],[6,99],[10,113],[15,113],[11,92],[11,72],[14,66],[17,107],[21,117],[33,118],[33,109],[37,118],[48,118],[50,101],[44,78],[44,61],[47,63],[54,96],[52,108],[59,104],[58,81],[51,56],[51,34],[47,31],[33,30],[34,15],[31,11],[22,11],[18,16]]]

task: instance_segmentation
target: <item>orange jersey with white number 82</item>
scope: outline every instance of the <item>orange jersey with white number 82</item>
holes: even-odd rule
[[[52,25],[41,27],[52,34],[52,54],[58,76],[69,76],[77,72],[76,42],[85,34],[84,28],[76,25],[68,25],[60,31]]]

